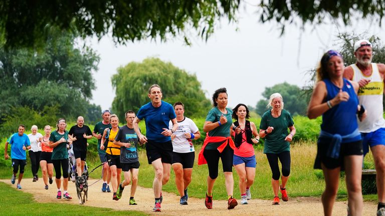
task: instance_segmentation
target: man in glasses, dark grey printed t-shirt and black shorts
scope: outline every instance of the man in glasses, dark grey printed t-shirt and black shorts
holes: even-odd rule
[[[134,199],[136,187],[138,185],[138,172],[139,172],[139,157],[138,157],[138,136],[134,130],[133,122],[135,119],[135,112],[132,110],[126,111],[124,114],[127,124],[120,127],[118,134],[115,137],[114,144],[120,147],[120,162],[122,164],[122,170],[124,174],[124,180],[119,184],[116,191],[116,197],[121,198],[123,189],[125,186],[131,184],[130,205],[136,205]]]

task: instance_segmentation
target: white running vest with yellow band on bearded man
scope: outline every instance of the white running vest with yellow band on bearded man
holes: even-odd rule
[[[365,120],[358,120],[358,129],[360,132],[372,132],[378,128],[385,127],[385,119],[383,119],[382,95],[383,95],[383,79],[378,72],[376,63],[371,63],[371,75],[364,75],[356,64],[351,64],[353,68],[353,81],[358,82],[360,79],[370,79],[370,82],[358,89],[359,103],[363,104],[367,110]]]

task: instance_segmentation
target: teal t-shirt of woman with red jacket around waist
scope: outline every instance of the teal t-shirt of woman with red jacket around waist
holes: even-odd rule
[[[233,124],[233,120],[232,120],[233,110],[231,110],[230,108],[226,108],[226,110],[227,110],[227,114],[222,113],[217,106],[210,109],[209,113],[206,116],[206,121],[217,122],[219,121],[219,119],[221,119],[221,115],[223,114],[227,118],[227,123],[222,124],[214,128],[213,130],[210,130],[209,136],[224,136],[224,137],[230,136],[230,127]],[[217,149],[220,145],[221,143],[217,143],[217,142],[209,143],[205,149],[209,149],[209,150]]]

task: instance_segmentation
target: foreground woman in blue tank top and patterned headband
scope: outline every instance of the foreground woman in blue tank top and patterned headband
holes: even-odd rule
[[[314,168],[322,168],[326,187],[322,193],[324,214],[331,215],[338,191],[340,171],[345,170],[348,214],[361,215],[362,142],[356,113],[366,116],[358,106],[358,83],[343,78],[343,58],[329,50],[317,68],[317,82],[310,99],[307,116],[322,115]]]

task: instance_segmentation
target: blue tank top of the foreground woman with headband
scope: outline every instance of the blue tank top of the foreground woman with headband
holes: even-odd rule
[[[333,99],[338,94],[340,88],[335,86],[330,79],[323,79],[323,81],[327,89],[325,101]],[[321,129],[331,134],[338,133],[343,136],[352,133],[358,128],[356,117],[358,97],[354,92],[353,85],[345,78],[343,79],[342,91],[346,91],[349,94],[349,100],[340,102],[322,114]],[[361,136],[358,135],[342,142],[352,142],[360,139]]]

